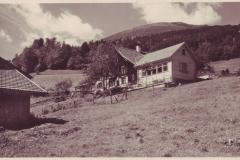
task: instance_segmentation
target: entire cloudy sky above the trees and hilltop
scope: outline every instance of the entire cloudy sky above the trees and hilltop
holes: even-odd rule
[[[36,38],[71,45],[157,22],[240,24],[240,2],[0,4],[0,56],[12,59]]]

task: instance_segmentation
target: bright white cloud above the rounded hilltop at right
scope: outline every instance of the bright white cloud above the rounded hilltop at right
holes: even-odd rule
[[[147,23],[185,22],[195,25],[216,24],[221,20],[216,8],[219,3],[170,3],[136,1],[133,8],[140,9]]]

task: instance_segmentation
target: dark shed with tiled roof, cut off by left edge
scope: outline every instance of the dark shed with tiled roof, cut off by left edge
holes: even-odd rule
[[[0,126],[17,126],[30,115],[30,96],[47,92],[0,57]]]

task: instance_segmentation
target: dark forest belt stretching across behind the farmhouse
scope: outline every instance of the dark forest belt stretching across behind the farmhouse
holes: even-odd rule
[[[181,25],[184,26],[184,24]],[[146,29],[146,26],[142,28]],[[152,52],[185,41],[199,62],[203,64],[240,57],[239,30],[240,25],[185,27],[166,32],[149,31],[147,35],[135,34],[134,37],[113,38],[113,35],[111,38],[107,37],[100,41],[84,42],[81,46],[60,43],[55,38],[36,39],[30,47],[16,55],[13,63],[28,73],[46,69],[92,67],[92,70],[100,68],[101,70],[97,70],[100,75],[104,67],[105,69],[109,67],[101,68],[99,65],[103,63],[99,63],[99,60],[112,63],[110,58],[114,58],[115,55],[114,45],[134,49],[139,44],[143,51]],[[98,57],[97,61],[96,57]]]

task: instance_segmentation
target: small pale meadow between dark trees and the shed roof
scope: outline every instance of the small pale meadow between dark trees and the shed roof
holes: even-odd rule
[[[47,70],[39,75],[34,74],[32,76],[33,81],[45,89],[53,89],[56,83],[67,79],[73,82],[74,87],[86,78],[86,74],[78,70]]]

